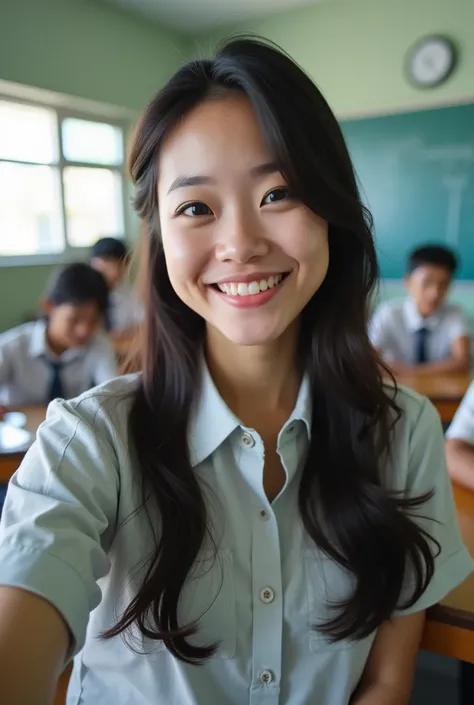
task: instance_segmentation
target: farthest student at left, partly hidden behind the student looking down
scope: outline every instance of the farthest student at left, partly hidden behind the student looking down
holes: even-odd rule
[[[127,337],[140,321],[140,307],[133,287],[125,281],[129,253],[115,237],[103,237],[91,250],[91,267],[100,272],[109,287],[105,327],[114,338]]]

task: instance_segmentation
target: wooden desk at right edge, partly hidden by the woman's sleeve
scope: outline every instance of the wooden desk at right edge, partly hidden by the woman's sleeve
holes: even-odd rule
[[[474,493],[454,486],[464,543],[474,556]],[[422,648],[474,663],[474,574],[428,610]]]

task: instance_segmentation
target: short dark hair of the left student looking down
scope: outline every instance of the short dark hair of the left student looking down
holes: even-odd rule
[[[107,282],[100,272],[88,264],[78,262],[56,271],[46,290],[46,296],[55,305],[82,306],[93,301],[105,313],[109,301]]]

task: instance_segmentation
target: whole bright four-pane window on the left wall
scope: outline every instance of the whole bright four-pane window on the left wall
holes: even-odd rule
[[[123,235],[124,179],[123,125],[0,97],[0,263]]]

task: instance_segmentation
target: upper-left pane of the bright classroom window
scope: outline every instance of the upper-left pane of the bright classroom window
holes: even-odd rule
[[[53,110],[0,100],[0,159],[52,164],[57,156]]]

